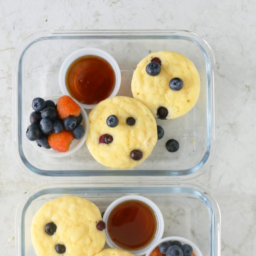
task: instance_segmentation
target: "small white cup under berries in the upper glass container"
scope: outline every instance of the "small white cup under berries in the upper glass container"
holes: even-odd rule
[[[52,100],[54,101],[54,103],[56,104],[58,99],[63,96],[63,95],[58,95],[58,96],[52,96],[52,97],[42,97],[45,101],[47,100]],[[74,99],[73,99],[74,100]],[[80,107],[81,107],[81,104],[74,100]],[[28,115],[27,115],[27,119],[26,119],[26,129],[27,127],[30,125],[30,121],[29,121],[29,117],[30,117],[30,114],[34,112],[34,109],[31,108],[28,112]],[[52,148],[43,148],[43,147],[39,147],[37,144],[36,144],[36,141],[30,141],[31,144],[34,146],[35,149],[37,149],[39,152],[41,152],[42,154],[45,154],[45,155],[48,155],[48,156],[53,156],[53,157],[63,157],[63,156],[67,156],[67,155],[71,155],[73,154],[75,151],[77,151],[79,148],[81,148],[81,146],[85,143],[85,140],[87,138],[87,135],[88,135],[88,130],[89,130],[89,120],[88,120],[88,115],[86,113],[86,111],[84,110],[84,108],[81,107],[81,115],[83,117],[83,120],[81,122],[81,125],[84,127],[84,135],[81,139],[79,140],[76,140],[74,139],[71,143],[71,145],[69,146],[69,149],[66,151],[66,152],[59,152],[57,150],[54,150]],[[25,129],[25,131],[26,131]],[[27,139],[27,138],[26,138]]]

